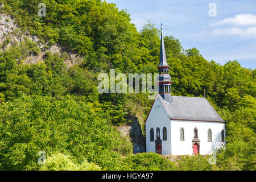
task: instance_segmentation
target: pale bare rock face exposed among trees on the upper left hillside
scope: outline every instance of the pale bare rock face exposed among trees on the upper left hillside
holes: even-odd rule
[[[3,5],[0,5],[0,9],[1,6]],[[30,55],[23,60],[25,64],[34,64],[38,61],[43,61],[44,55],[48,51],[59,55],[64,52],[64,50],[58,44],[53,44],[51,47],[46,48],[48,42],[42,43],[44,41],[41,41],[37,36],[30,35],[29,32],[22,33],[20,28],[15,24],[14,20],[11,19],[10,15],[0,13],[0,46],[2,51],[5,51],[9,47],[24,41],[25,38],[32,40],[32,42],[36,43],[40,48],[40,53],[38,55]],[[5,43],[5,45],[3,45],[3,43]],[[71,67],[71,65],[80,63],[83,60],[80,55],[72,52],[67,53],[68,58],[64,61],[64,63],[68,68]]]

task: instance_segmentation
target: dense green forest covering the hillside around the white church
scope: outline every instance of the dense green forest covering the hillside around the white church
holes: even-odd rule
[[[38,16],[39,3],[46,16]],[[99,73],[157,73],[160,31],[147,20],[141,31],[130,15],[101,0],[0,0],[16,36],[36,36],[45,45],[43,61],[24,63],[42,52],[30,39],[0,45],[0,170],[255,170],[255,69],[236,61],[205,60],[196,48],[184,50],[165,36],[175,96],[203,97],[226,121],[226,146],[210,156],[183,156],[172,162],[154,153],[132,154],[133,144],[117,126],[144,119],[148,94],[99,94]],[[8,35],[6,35],[8,36]],[[61,53],[47,51],[60,45]],[[67,67],[69,52],[82,61]],[[47,162],[38,165],[38,152]]]

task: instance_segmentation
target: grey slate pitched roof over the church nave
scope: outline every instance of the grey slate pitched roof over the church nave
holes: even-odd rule
[[[170,104],[159,94],[156,98],[172,120],[225,122],[204,97],[171,96]]]

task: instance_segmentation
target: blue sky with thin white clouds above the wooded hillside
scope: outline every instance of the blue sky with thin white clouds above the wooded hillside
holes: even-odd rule
[[[221,65],[237,60],[242,67],[256,68],[255,0],[106,0],[127,9],[139,30],[146,19],[164,35],[179,39],[184,49],[195,47],[207,60]],[[216,5],[216,16],[209,16]]]

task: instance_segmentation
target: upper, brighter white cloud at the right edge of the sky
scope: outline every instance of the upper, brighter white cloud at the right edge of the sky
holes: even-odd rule
[[[225,18],[220,22],[213,23],[212,25],[221,26],[223,24],[233,24],[236,26],[251,26],[256,25],[256,15],[253,14],[238,14],[234,18]]]

